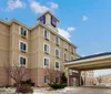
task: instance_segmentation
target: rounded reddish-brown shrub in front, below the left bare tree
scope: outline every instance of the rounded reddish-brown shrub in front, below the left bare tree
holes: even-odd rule
[[[33,93],[33,90],[28,84],[22,84],[17,88],[18,93]]]

